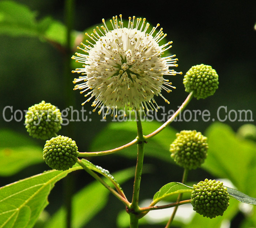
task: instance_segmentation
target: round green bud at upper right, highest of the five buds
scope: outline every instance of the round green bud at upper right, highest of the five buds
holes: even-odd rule
[[[183,79],[185,91],[194,91],[194,97],[207,98],[218,89],[218,74],[211,66],[200,64],[189,69]]]

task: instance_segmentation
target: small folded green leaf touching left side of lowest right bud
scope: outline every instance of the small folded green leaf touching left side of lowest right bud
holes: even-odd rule
[[[170,182],[162,186],[162,188],[160,188],[160,190],[157,193],[155,193],[153,201],[157,203],[160,200],[163,200],[164,198],[172,196],[174,194],[192,192],[192,189],[192,187],[184,185],[179,182]]]

